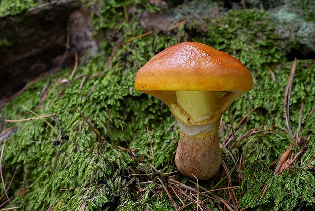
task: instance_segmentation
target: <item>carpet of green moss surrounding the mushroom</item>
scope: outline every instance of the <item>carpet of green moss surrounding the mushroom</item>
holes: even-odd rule
[[[207,27],[201,28],[198,21],[191,21],[168,34],[154,32],[126,42],[146,32],[139,25],[140,9],[130,14],[129,23],[125,22],[123,5],[132,4],[136,3],[112,1],[101,6],[105,16],[94,19],[95,27],[103,30],[118,21],[113,29],[115,37],[107,36],[99,54],[88,55],[89,62],[78,66],[75,79],[61,82],[69,78],[72,69],[46,76],[2,109],[6,119],[35,117],[19,104],[39,115],[54,113],[54,116],[45,119],[57,131],[55,133],[39,119],[5,124],[6,128],[17,126],[7,140],[3,154],[3,172],[7,172],[5,183],[10,182],[16,171],[9,194],[15,195],[20,188],[26,190],[25,198],[17,196],[12,203],[30,210],[47,210],[53,201],[53,208],[61,210],[174,210],[157,178],[161,178],[167,186],[167,177],[162,173],[176,170],[173,157],[179,136],[178,126],[164,103],[135,91],[134,77],[138,69],[157,52],[178,42],[195,40],[231,53],[243,60],[253,72],[253,90],[241,96],[230,109],[232,125],[235,126],[251,109],[257,109],[247,117],[249,121],[236,136],[241,137],[249,129],[262,125],[274,129],[266,135],[243,139],[240,143],[244,144],[243,148],[236,145],[231,149],[236,163],[242,156],[241,161],[247,166],[238,196],[242,206],[270,207],[272,203],[277,203],[279,209],[304,203],[312,207],[313,199],[305,197],[311,195],[313,188],[313,175],[306,165],[314,154],[314,115],[302,128],[302,135],[309,141],[303,156],[303,168],[292,168],[296,176],[285,171],[274,178],[268,170],[268,165],[291,141],[280,128],[286,128],[283,92],[292,65],[283,57],[285,46],[278,45],[279,37],[274,34],[268,15],[258,10],[231,11],[222,20],[215,20],[219,25],[205,19]],[[97,17],[97,14],[94,15]],[[119,45],[116,45],[117,38]],[[117,50],[113,51],[115,45]],[[112,52],[112,60],[108,62]],[[290,101],[293,131],[298,125],[301,103],[304,102],[302,122],[305,122],[315,101],[312,86],[315,77],[311,74],[315,71],[313,63],[313,60],[298,62]],[[269,69],[274,73],[275,81]],[[42,93],[46,84],[46,92]],[[229,130],[227,113],[223,116],[223,122],[224,128]],[[235,163],[226,151],[223,158],[227,169],[233,170],[232,186],[237,186],[239,174],[235,170]],[[151,165],[157,172],[152,170]],[[200,187],[208,190],[215,184],[226,187],[228,181],[224,172],[222,169],[212,180],[200,182]],[[183,184],[197,187],[178,172],[172,175]],[[263,201],[258,202],[259,193],[266,182],[270,187]],[[289,193],[281,192],[281,197],[291,197],[292,201],[283,200],[282,203],[282,198],[272,191],[285,186],[287,182],[291,182],[290,187],[285,188]],[[301,193],[299,187],[292,183],[309,186],[309,189]],[[223,191],[217,194],[223,199],[229,198]],[[177,197],[173,199],[181,204]],[[200,196],[200,200],[204,199],[205,196]],[[219,200],[205,203],[211,209],[223,206]],[[193,208],[192,204],[186,210]]]

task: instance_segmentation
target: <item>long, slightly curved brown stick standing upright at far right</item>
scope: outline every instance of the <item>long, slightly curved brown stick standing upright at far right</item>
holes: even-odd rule
[[[289,116],[289,104],[290,104],[292,84],[293,84],[294,73],[296,70],[296,65],[297,65],[297,59],[294,58],[294,63],[291,67],[291,71],[290,71],[288,82],[285,89],[285,98],[283,100],[283,107],[285,108],[286,123],[288,127],[288,132],[291,138],[293,138],[293,133],[292,133],[291,123],[290,123],[290,116]]]

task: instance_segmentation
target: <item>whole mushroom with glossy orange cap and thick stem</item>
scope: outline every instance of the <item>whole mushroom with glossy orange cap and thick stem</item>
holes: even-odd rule
[[[253,88],[244,65],[225,52],[198,42],[173,45],[141,67],[135,88],[168,105],[180,128],[177,169],[206,180],[222,163],[219,122],[240,95]]]

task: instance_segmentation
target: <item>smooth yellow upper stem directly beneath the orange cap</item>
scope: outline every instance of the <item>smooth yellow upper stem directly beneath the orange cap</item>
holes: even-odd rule
[[[214,92],[176,91],[176,97],[177,105],[185,110],[193,121],[217,110]]]

